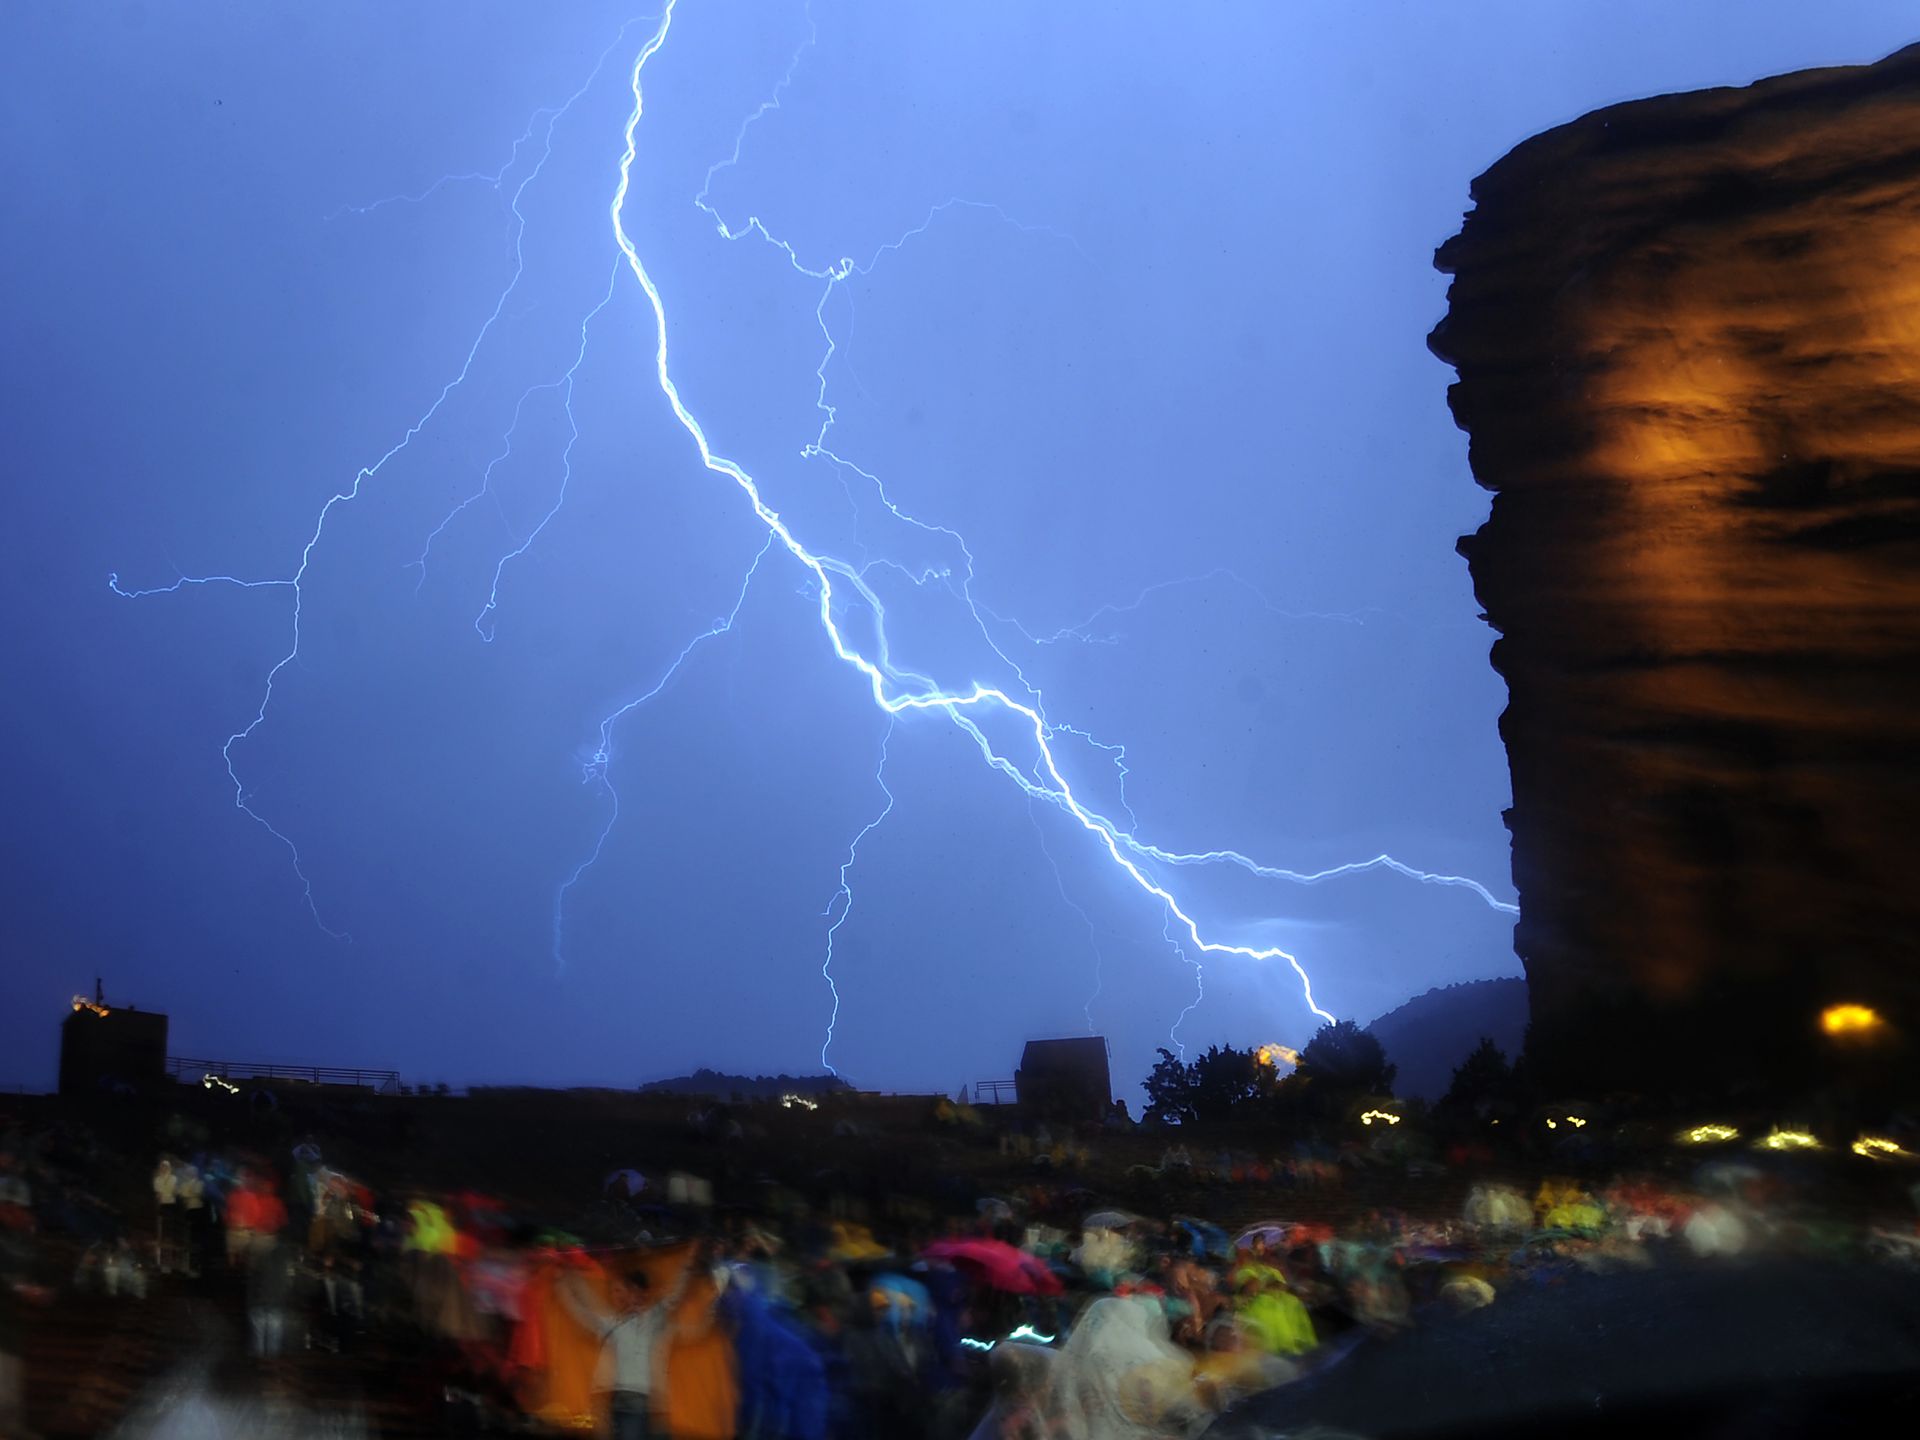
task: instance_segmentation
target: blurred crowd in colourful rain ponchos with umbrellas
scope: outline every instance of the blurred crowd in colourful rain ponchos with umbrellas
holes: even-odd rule
[[[1513,1286],[1757,1248],[1920,1258],[1910,1221],[1837,1223],[1789,1173],[1734,1160],[1605,1183],[1482,1179],[1446,1215],[1332,1206],[1336,1223],[1235,1227],[1068,1217],[1060,1196],[1085,1192],[1037,1181],[893,1231],[831,1206],[714,1210],[693,1177],[616,1171],[607,1223],[582,1236],[488,1194],[349,1175],[313,1139],[156,1148],[152,1212],[115,1215],[83,1179],[100,1158],[83,1131],[0,1142],[10,1325],[63,1286],[125,1304],[198,1286],[244,1306],[263,1369],[407,1346],[474,1428],[622,1440],[1192,1436],[1365,1336]],[[1027,1154],[1073,1165],[1069,1139]],[[1309,1146],[1204,1164],[1169,1146],[1154,1169],[1206,1167],[1275,1208],[1340,1173]],[[36,1269],[42,1231],[67,1236],[69,1273]]]

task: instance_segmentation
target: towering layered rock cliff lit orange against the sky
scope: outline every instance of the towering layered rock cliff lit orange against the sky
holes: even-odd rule
[[[1788,1089],[1864,1000],[1884,1066],[1920,1025],[1920,46],[1584,115],[1473,202],[1428,344],[1494,492],[1461,553],[1530,1054]]]

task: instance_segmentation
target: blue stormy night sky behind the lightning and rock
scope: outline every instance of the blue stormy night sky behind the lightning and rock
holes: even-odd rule
[[[1897,2],[682,0],[622,225],[687,411],[889,699],[1043,710],[1073,804],[1139,847],[1384,851],[1511,902],[1432,248],[1536,131],[1910,27]],[[1048,793],[1018,712],[889,724],[820,576],[778,541],[755,568],[768,526],[668,405],[609,217],[659,29],[0,12],[0,1081],[52,1083],[96,973],[167,1010],[177,1054],[818,1069],[837,922],[829,1060],[868,1087],[1010,1075],[1089,1023],[1123,1089],[1177,1021],[1311,1035],[1284,960],[1204,956],[1194,1004],[1192,939]],[[282,584],[167,589],[204,576]],[[221,756],[296,599],[232,764],[298,872]],[[1519,972],[1473,889],[1117,847],[1338,1016]]]

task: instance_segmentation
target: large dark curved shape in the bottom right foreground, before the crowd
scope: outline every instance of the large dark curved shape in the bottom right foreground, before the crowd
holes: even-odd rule
[[[1329,1427],[1365,1436],[1847,1434],[1912,1425],[1910,1273],[1761,1261],[1665,1265],[1517,1288],[1258,1396],[1212,1440]]]

